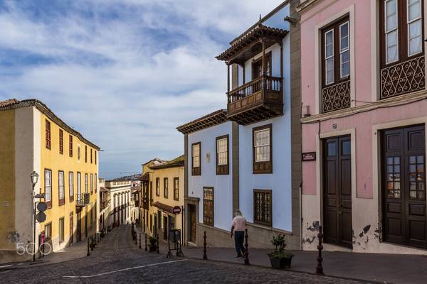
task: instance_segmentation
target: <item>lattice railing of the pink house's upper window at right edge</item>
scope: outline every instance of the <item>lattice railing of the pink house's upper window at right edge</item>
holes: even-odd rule
[[[419,91],[426,87],[423,56],[381,70],[381,99]]]

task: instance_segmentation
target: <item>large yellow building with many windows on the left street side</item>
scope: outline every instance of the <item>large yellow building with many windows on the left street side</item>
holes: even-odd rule
[[[33,239],[38,257],[94,234],[100,148],[36,99],[0,102],[0,124],[0,262],[31,259]],[[48,209],[34,237],[39,201]]]

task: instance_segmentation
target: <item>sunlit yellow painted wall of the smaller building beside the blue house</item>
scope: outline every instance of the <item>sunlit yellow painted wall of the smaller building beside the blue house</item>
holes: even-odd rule
[[[184,167],[164,168],[164,169],[152,169],[152,175],[150,175],[150,181],[153,185],[153,204],[154,202],[160,202],[169,206],[182,206],[184,205]],[[160,196],[156,194],[156,178],[160,180]],[[168,178],[169,190],[168,197],[164,197],[164,178]],[[174,200],[174,178],[179,178],[179,200]],[[149,216],[152,215],[153,226],[154,214],[158,213],[158,208],[154,206],[149,207]],[[182,212],[181,212],[182,214]],[[169,214],[175,217],[175,229],[182,229],[181,214]],[[162,216],[161,216],[162,217]],[[149,221],[149,220],[148,220]],[[158,221],[157,221],[158,222]],[[164,228],[163,217],[162,217],[162,228]],[[154,230],[152,231],[154,233]],[[159,233],[159,239],[162,239]]]

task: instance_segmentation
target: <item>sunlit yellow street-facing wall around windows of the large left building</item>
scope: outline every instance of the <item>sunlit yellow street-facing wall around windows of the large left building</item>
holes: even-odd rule
[[[90,192],[90,174],[93,174],[93,194],[90,195],[90,204],[83,207],[81,210],[81,231],[82,240],[85,240],[85,215],[88,214],[88,236],[95,233],[97,216],[93,213],[97,204],[97,194],[99,193],[99,187],[95,193],[95,185],[97,180],[95,174],[99,178],[97,165],[95,165],[95,153],[97,155],[97,162],[99,162],[99,153],[95,148],[90,147],[80,141],[77,136],[73,136],[73,157],[69,155],[69,135],[65,129],[63,130],[63,154],[59,152],[59,130],[60,127],[51,121],[51,149],[46,148],[46,119],[44,114],[41,114],[41,169],[39,173],[41,175],[41,192],[44,192],[45,187],[45,169],[52,171],[52,208],[46,210],[46,222],[41,224],[41,230],[44,230],[46,224],[51,223],[52,225],[52,243],[53,249],[56,251],[68,243],[70,238],[70,213],[73,213],[73,241],[77,241],[76,230],[77,230],[77,210],[75,202],[77,200],[77,173],[81,173],[81,192],[85,192],[85,174],[88,174],[88,192]],[[88,160],[85,162],[85,146],[88,146]],[[80,159],[78,158],[78,147],[80,147]],[[93,151],[93,163],[90,163],[90,149]],[[59,205],[59,185],[58,185],[58,172],[62,170],[64,172],[64,192],[65,192],[65,204]],[[69,172],[73,172],[73,184],[74,184],[74,200],[70,202],[69,194]],[[90,228],[90,214],[93,216],[92,229]],[[59,219],[64,218],[64,241],[59,244]]]

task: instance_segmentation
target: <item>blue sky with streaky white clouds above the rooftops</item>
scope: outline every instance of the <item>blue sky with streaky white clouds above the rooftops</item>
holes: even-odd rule
[[[184,152],[226,108],[228,43],[283,0],[0,0],[0,100],[39,99],[102,148],[100,177]]]

